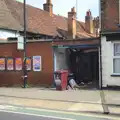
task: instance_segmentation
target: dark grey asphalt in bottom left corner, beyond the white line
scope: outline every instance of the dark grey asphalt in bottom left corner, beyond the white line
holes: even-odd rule
[[[63,119],[26,115],[19,113],[0,112],[0,120],[63,120]]]

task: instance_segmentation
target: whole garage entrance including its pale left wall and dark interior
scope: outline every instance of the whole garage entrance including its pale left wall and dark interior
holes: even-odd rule
[[[54,68],[68,70],[83,89],[99,87],[99,54],[97,46],[64,46],[54,49]]]

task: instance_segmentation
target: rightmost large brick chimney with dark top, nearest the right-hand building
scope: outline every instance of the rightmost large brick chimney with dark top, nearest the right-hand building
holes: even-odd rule
[[[92,34],[93,31],[93,18],[92,18],[92,13],[90,10],[86,12],[85,16],[85,30],[86,32]]]

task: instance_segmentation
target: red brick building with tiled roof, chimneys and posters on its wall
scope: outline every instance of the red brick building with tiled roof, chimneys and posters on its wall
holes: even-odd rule
[[[41,56],[42,66],[40,72],[35,72],[33,69],[28,72],[30,85],[51,86],[54,83],[55,70],[70,69],[65,61],[65,53],[68,49],[72,51],[75,49],[76,52],[81,50],[87,51],[86,53],[96,52],[95,56],[98,58],[99,39],[95,38],[91,11],[86,14],[88,23],[85,24],[76,21],[74,8],[68,13],[68,18],[65,18],[53,14],[52,6],[49,0],[43,5],[44,10],[27,5],[27,57],[31,57],[32,60],[33,56]],[[0,21],[2,36],[0,37],[4,39],[0,42],[0,56],[6,59],[9,57],[23,59],[23,51],[17,50],[17,39],[24,35],[21,9],[23,4],[15,0],[3,0],[0,1],[0,7],[2,9],[0,13],[4,13],[4,16],[0,16],[2,19]],[[86,30],[86,28],[89,29]],[[95,60],[97,60],[96,57]],[[55,62],[57,60],[60,60],[59,65]],[[1,71],[0,86],[22,85],[22,75],[22,70]]]

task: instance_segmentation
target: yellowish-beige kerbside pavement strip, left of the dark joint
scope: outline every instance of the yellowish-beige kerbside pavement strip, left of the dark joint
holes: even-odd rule
[[[25,98],[14,98],[14,97],[0,97],[0,99],[1,99],[0,104],[62,110],[62,111],[72,111],[72,112],[103,113],[101,104],[73,103],[73,102],[25,99]]]

